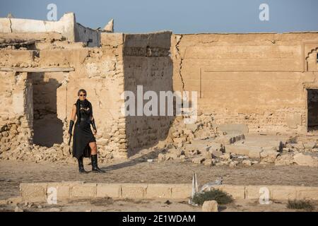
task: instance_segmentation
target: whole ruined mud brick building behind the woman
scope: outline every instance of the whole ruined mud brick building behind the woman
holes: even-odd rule
[[[307,133],[318,125],[317,53],[318,32],[125,34],[85,28],[73,13],[59,21],[0,18],[0,153],[67,143],[80,88],[93,104],[104,157],[173,141],[177,117],[122,115],[121,95],[137,85],[197,91],[199,116],[214,129]]]

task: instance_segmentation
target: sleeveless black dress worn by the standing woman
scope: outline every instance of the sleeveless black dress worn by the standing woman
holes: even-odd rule
[[[76,104],[76,123],[73,132],[73,157],[90,157],[90,142],[96,142],[95,137],[90,130],[90,117],[93,115],[93,109],[90,102],[83,107],[81,101]]]

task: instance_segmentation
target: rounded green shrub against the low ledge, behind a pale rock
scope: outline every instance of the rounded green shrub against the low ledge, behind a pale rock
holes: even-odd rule
[[[205,191],[204,193],[197,193],[194,195],[192,201],[198,205],[202,205],[204,201],[215,200],[218,204],[232,203],[233,198],[224,191],[219,189],[213,189],[211,191]]]

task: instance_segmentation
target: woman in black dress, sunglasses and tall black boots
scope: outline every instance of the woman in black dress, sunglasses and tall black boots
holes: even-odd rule
[[[83,165],[83,157],[91,157],[92,172],[105,172],[98,168],[97,146],[94,135],[97,133],[95,120],[93,118],[92,104],[86,99],[86,90],[78,90],[78,100],[73,105],[71,121],[69,124],[69,134],[71,136],[72,129],[76,119],[73,136],[73,157],[78,160],[78,169],[80,173],[87,173]],[[90,130],[90,124],[93,131]]]

